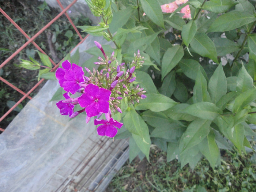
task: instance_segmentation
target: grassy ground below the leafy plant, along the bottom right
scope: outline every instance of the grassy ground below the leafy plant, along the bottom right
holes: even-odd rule
[[[221,166],[213,170],[206,159],[194,170],[180,168],[177,160],[166,163],[166,153],[151,147],[150,162],[136,158],[128,161],[110,182],[106,192],[226,192],[256,191],[256,165],[250,161],[252,153],[239,155],[226,151]],[[225,161],[223,160],[225,159]]]

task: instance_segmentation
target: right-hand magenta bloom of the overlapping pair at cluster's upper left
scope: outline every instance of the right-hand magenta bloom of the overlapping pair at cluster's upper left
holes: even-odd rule
[[[63,82],[63,89],[72,94],[80,89],[79,83],[84,82],[84,72],[82,67],[75,67],[69,69],[64,75],[65,81]]]

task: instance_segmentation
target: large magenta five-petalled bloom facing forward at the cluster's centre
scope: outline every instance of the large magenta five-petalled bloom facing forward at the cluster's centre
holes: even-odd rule
[[[88,117],[93,117],[99,113],[108,113],[110,95],[111,91],[89,84],[78,98],[78,103],[82,108],[85,107]]]

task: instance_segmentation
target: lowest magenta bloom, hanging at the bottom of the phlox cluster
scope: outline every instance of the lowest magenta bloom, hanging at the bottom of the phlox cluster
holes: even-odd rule
[[[110,118],[109,121],[94,119],[94,125],[98,124],[103,124],[97,128],[98,135],[106,135],[110,138],[116,136],[117,128],[120,129],[123,126],[123,123],[119,123],[118,121],[113,120],[113,118]]]

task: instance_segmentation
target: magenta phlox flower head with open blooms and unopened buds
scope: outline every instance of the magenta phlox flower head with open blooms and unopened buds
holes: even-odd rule
[[[129,103],[139,102],[139,99],[146,98],[144,95],[146,91],[143,88],[139,88],[139,85],[133,87],[136,79],[135,68],[142,66],[144,57],[138,50],[138,53],[134,55],[135,59],[130,64],[130,69],[125,70],[125,63],[118,64],[114,52],[108,57],[101,44],[95,41],[95,45],[104,56],[104,59],[98,57],[98,62],[94,63],[102,65],[101,71],[93,68],[91,72],[85,67],[89,74],[85,76],[82,67],[71,64],[68,60],[64,61],[63,68],[58,68],[56,71],[56,78],[67,93],[63,95],[65,100],[57,102],[56,105],[61,115],[68,115],[70,118],[85,112],[86,123],[91,117],[97,116],[94,119],[94,125],[102,124],[97,128],[98,135],[113,138],[117,134],[117,128],[120,129],[123,123],[114,120],[112,114],[122,113],[120,104],[123,98],[126,97]],[[70,93],[73,96],[70,96]],[[80,95],[75,97],[76,93]],[[82,109],[74,112],[75,105],[79,105]],[[105,120],[98,119],[102,114],[105,114]]]

